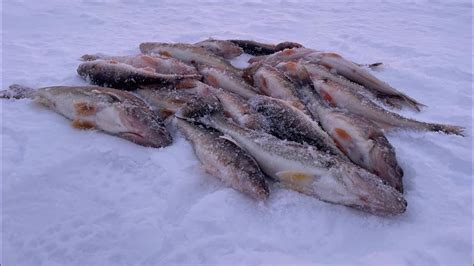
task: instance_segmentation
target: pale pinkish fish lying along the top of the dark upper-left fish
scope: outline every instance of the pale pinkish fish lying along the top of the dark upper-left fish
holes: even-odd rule
[[[185,64],[184,62],[166,56],[150,56],[150,55],[126,55],[126,56],[110,56],[104,54],[86,54],[81,57],[83,61],[94,61],[98,59],[110,60],[118,63],[124,63],[136,68],[156,72],[160,74],[177,74],[177,75],[198,75],[197,69]]]

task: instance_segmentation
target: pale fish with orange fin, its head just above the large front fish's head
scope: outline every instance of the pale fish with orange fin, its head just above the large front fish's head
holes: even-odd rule
[[[331,108],[312,88],[302,87],[308,111],[350,160],[379,176],[386,184],[403,193],[403,169],[395,149],[373,122],[337,108]]]

